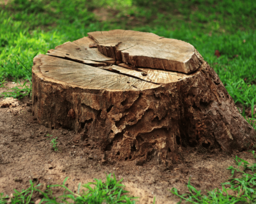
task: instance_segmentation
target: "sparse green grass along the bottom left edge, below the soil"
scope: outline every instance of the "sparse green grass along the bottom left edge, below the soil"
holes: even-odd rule
[[[126,203],[126,204],[134,204],[136,201],[136,197],[132,197],[127,195],[128,191],[123,190],[125,187],[121,184],[122,179],[120,181],[116,180],[115,174],[113,174],[113,178],[111,174],[106,175],[106,182],[102,182],[101,180],[94,179],[95,182],[78,185],[77,194],[73,193],[68,187],[65,186],[68,177],[63,181],[62,185],[48,185],[46,191],[42,192],[40,190],[41,184],[35,185],[30,180],[30,187],[26,190],[22,190],[18,192],[14,189],[14,194],[12,196],[4,196],[3,193],[0,193],[0,204],[7,203],[34,203],[36,192],[39,193],[40,203],[77,203],[77,204],[101,204],[101,203]],[[53,188],[62,188],[63,195],[54,197],[52,196]],[[34,194],[33,194],[34,193]],[[38,197],[37,197],[38,199]]]

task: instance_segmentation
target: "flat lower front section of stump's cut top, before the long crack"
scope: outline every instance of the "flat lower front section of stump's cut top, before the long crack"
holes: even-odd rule
[[[40,69],[42,75],[59,81],[61,84],[89,89],[109,90],[144,90],[159,85],[136,79],[133,75],[123,75],[98,67],[60,59],[47,55],[38,55],[34,67]],[[116,67],[116,66],[115,66]],[[45,79],[45,80],[46,80]]]

